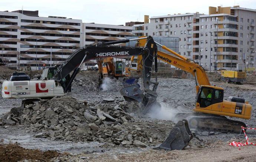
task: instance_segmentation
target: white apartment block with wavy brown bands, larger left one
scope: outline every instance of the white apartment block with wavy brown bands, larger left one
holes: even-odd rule
[[[82,20],[0,11],[0,54],[12,69],[58,65],[79,48],[81,30]]]

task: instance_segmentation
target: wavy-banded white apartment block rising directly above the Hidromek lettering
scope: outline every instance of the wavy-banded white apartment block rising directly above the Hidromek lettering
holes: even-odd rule
[[[85,45],[93,42],[118,41],[133,35],[130,26],[95,23],[83,23],[82,34],[85,35]]]

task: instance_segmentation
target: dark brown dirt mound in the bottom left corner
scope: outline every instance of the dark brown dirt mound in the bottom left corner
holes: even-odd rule
[[[0,144],[0,161],[17,162],[22,160],[49,161],[58,157],[56,151],[40,151],[38,149],[25,149],[19,144]]]

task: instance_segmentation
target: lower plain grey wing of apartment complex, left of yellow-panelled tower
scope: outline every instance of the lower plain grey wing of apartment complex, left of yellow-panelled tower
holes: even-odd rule
[[[154,16],[144,24],[144,35],[152,37],[178,37],[178,52],[192,59],[193,20],[199,13]]]

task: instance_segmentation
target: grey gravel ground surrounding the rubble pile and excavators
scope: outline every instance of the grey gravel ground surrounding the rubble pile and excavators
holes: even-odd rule
[[[86,75],[86,77],[84,76]],[[79,73],[72,87],[72,96],[78,100],[86,100],[88,103],[97,103],[105,97],[122,100],[119,94],[121,78],[112,80],[108,90],[98,89],[96,73]],[[137,119],[150,120],[154,124],[154,129],[168,125],[173,120],[175,113],[191,111],[194,107],[196,90],[193,79],[158,79],[158,101],[162,109],[157,114],[151,114],[147,118]],[[224,99],[228,96],[244,97],[252,104],[252,117],[250,120],[232,118],[246,123],[249,127],[256,127],[256,86],[254,85],[234,85],[227,83],[211,82],[212,85],[224,88]],[[0,98],[0,117],[3,113],[10,111],[12,107],[20,106],[20,99],[6,100]],[[165,130],[168,132],[169,130]],[[27,133],[19,126],[4,128],[0,126],[0,139],[6,142],[19,142],[24,148],[39,148],[43,151],[58,150],[69,152],[69,155],[60,155],[55,160],[71,161],[255,161],[255,146],[236,147],[228,146],[228,142],[238,139],[237,134],[217,134],[198,137],[202,141],[193,139],[189,147],[180,151],[153,150],[151,147],[144,149],[125,148],[113,146],[108,143],[71,143],[67,141],[50,141],[44,138],[35,138],[33,133]],[[168,133],[165,133],[166,136]],[[161,134],[164,136],[165,134]],[[255,142],[256,131],[247,131],[250,141]],[[165,136],[165,137],[166,137]],[[243,139],[241,135],[240,139]],[[89,154],[88,154],[89,153]],[[100,153],[100,154],[99,154]]]

